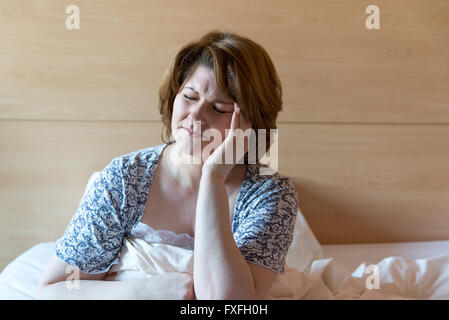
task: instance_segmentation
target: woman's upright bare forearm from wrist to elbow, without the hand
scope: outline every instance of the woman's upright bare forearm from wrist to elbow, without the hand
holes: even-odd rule
[[[204,170],[196,207],[194,286],[197,299],[253,299],[254,279],[235,244],[224,178]]]

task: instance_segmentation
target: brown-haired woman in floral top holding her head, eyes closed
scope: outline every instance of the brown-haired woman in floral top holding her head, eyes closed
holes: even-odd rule
[[[281,97],[274,66],[255,42],[210,32],[183,47],[159,89],[165,135],[173,139],[117,157],[101,171],[56,242],[40,296],[265,298],[284,272],[298,209],[296,189],[288,177],[261,175],[258,159],[249,161],[251,152],[243,161],[238,152],[231,163],[220,160],[236,150],[234,141],[245,130],[276,128]],[[211,132],[225,137],[214,149],[208,148]],[[193,275],[104,281],[120,259],[124,237],[138,236],[142,228],[164,234],[161,242],[182,238],[179,246],[194,248]],[[71,266],[79,269],[76,290],[64,283]]]

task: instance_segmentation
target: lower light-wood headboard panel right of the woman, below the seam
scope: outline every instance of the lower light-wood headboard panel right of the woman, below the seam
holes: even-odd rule
[[[280,172],[320,243],[449,239],[448,126],[282,125],[279,136]]]

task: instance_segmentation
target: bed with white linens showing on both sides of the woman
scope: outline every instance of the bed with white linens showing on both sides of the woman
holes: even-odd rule
[[[449,299],[448,248],[447,240],[321,245],[298,211],[286,272],[268,298]],[[0,299],[37,299],[53,252],[54,242],[43,242],[9,263],[0,274]]]

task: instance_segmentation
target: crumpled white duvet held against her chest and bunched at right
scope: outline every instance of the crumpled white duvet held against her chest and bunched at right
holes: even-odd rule
[[[128,238],[110,280],[192,272],[193,251]],[[269,299],[449,299],[449,254],[435,258],[385,258],[348,270],[336,258],[314,260],[310,272],[287,268]]]

